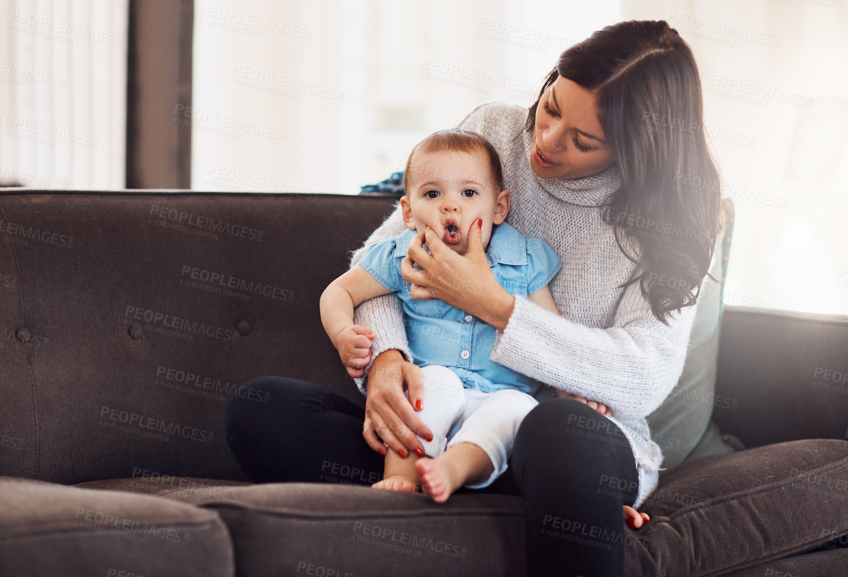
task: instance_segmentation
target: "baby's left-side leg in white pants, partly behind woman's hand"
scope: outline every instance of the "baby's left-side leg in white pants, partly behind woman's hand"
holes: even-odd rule
[[[447,445],[448,431],[465,408],[465,389],[460,378],[447,367],[427,365],[421,367],[421,374],[424,376],[424,406],[416,414],[432,431],[432,441],[425,441],[420,436],[418,440],[424,446],[425,455],[438,457]],[[371,486],[392,491],[421,491],[421,482],[416,471],[417,460],[415,454],[401,457],[389,449],[383,478]]]

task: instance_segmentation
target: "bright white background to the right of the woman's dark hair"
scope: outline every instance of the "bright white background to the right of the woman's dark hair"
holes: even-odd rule
[[[737,214],[725,302],[848,314],[848,6],[624,5],[627,19],[667,19],[695,52]]]

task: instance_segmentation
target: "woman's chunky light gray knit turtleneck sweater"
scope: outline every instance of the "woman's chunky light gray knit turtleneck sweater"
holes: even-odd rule
[[[600,216],[600,205],[621,186],[617,165],[579,179],[539,178],[530,168],[532,136],[522,130],[525,119],[527,108],[484,103],[459,125],[486,136],[500,154],[512,197],[506,221],[523,235],[547,242],[563,264],[549,285],[560,316],[516,297],[490,358],[547,383],[536,396],[539,401],[555,397],[551,387],[556,387],[610,408],[610,419],[621,427],[636,458],[638,508],[656,489],[662,462],[645,417],[660,406],[683,372],[696,307],[673,312],[666,326],[651,313],[639,283],[626,290],[617,288],[637,269],[616,245],[612,226]],[[517,135],[521,136],[516,139]],[[397,208],[365,246],[403,230]],[[351,266],[362,250],[354,253]],[[372,358],[397,348],[412,360],[397,296],[363,302],[354,317],[357,324],[377,332]],[[365,379],[356,382],[365,394]],[[577,435],[622,442],[620,436],[606,436],[589,422],[562,427]]]

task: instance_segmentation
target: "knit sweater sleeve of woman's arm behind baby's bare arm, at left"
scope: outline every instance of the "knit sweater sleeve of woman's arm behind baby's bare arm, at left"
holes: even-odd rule
[[[353,258],[350,259],[350,267],[353,268],[360,262],[365,247],[377,241],[397,236],[405,229],[404,218],[401,216],[400,205],[398,205],[395,211],[383,221],[382,225],[371,233],[365,244],[354,252]],[[410,352],[409,343],[406,341],[404,311],[396,294],[383,295],[362,302],[360,306],[354,308],[354,323],[368,327],[377,333],[377,338],[371,341],[371,363],[381,352],[393,348],[398,349],[407,361],[412,362],[412,352]],[[365,367],[365,376],[354,378],[356,386],[359,387],[363,395],[368,394],[367,377],[371,363],[368,363],[368,366]]]

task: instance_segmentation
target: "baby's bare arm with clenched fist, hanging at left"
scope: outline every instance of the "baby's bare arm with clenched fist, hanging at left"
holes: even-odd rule
[[[377,336],[372,330],[354,324],[354,307],[391,292],[367,270],[354,266],[333,280],[321,294],[321,323],[352,377],[365,373],[371,340]]]

